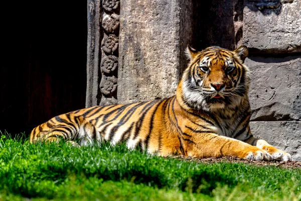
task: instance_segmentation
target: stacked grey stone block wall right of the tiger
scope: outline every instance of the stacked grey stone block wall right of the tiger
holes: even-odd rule
[[[301,160],[301,1],[245,1],[251,130]]]

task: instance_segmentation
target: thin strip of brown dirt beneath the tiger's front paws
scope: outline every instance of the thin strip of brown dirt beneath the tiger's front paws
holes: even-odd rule
[[[247,159],[232,157],[232,156],[224,156],[221,158],[205,158],[205,159],[197,159],[192,157],[184,157],[184,156],[175,156],[174,158],[185,160],[185,161],[195,161],[197,163],[219,163],[219,162],[228,162],[228,163],[245,163],[256,166],[276,166],[281,168],[299,168],[301,169],[301,161],[249,161]]]

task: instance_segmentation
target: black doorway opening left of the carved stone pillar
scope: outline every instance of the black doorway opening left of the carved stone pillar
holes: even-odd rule
[[[2,6],[0,130],[30,131],[85,107],[85,1],[20,1]]]

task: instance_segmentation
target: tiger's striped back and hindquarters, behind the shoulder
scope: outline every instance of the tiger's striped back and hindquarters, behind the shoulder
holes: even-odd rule
[[[148,152],[168,155],[176,152],[168,144],[177,144],[166,138],[173,134],[173,129],[165,118],[169,116],[168,106],[171,106],[172,99],[175,97],[73,111],[36,127],[31,133],[30,141],[57,140],[61,137],[76,141],[79,145],[93,140],[109,141],[112,144],[125,142],[129,148],[139,146]]]

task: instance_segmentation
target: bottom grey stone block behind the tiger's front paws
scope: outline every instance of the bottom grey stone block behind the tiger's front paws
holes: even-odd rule
[[[254,137],[288,152],[293,160],[301,160],[300,121],[251,122],[250,128]]]

